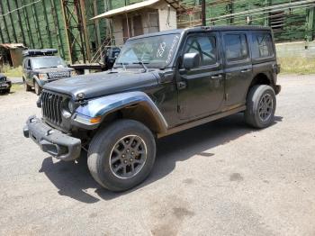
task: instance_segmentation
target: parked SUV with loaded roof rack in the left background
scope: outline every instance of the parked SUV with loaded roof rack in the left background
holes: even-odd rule
[[[40,95],[42,87],[59,78],[75,76],[73,68],[59,56],[58,50],[24,50],[23,51],[23,83],[26,91],[34,87],[35,94]]]

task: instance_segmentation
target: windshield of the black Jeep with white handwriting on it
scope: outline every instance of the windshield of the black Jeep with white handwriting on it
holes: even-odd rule
[[[173,59],[179,39],[179,34],[167,34],[127,41],[115,66],[143,62],[148,68],[165,68]]]

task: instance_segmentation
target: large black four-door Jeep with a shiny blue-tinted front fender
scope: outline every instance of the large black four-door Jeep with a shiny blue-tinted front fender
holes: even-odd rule
[[[130,39],[111,71],[44,86],[24,136],[62,160],[87,151],[94,179],[112,191],[148,177],[156,139],[244,112],[274,121],[279,65],[266,27],[198,27]]]

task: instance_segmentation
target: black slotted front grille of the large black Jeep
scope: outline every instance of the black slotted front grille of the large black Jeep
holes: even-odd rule
[[[52,94],[47,91],[41,93],[42,115],[50,123],[62,123],[61,105],[64,100],[62,95]]]

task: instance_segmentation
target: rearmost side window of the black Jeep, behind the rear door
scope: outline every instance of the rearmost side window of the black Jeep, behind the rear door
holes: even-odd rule
[[[270,33],[253,33],[253,59],[264,59],[274,56],[273,41]]]

